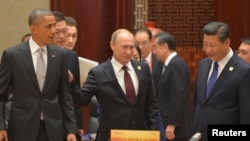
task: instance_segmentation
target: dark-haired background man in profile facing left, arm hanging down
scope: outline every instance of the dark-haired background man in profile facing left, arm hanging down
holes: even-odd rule
[[[174,37],[157,33],[153,53],[164,63],[161,79],[155,90],[167,140],[188,141],[190,133],[189,83],[186,62],[177,54]]]

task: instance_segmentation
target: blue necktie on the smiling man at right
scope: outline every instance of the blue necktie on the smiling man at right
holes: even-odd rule
[[[214,62],[213,72],[207,83],[206,98],[208,97],[210,91],[212,90],[214,83],[216,82],[217,76],[218,76],[218,63]]]

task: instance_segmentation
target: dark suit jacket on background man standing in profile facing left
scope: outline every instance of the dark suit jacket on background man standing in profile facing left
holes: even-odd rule
[[[176,55],[164,66],[165,71],[159,80],[156,96],[164,128],[175,125],[176,138],[189,137],[189,83],[190,74],[186,62]]]

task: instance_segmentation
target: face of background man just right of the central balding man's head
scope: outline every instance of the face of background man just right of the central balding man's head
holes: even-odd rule
[[[135,34],[135,44],[139,46],[143,59],[152,51],[152,44],[146,32],[137,32]]]

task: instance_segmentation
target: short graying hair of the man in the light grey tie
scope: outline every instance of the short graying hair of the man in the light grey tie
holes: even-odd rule
[[[29,25],[36,25],[42,21],[44,16],[53,16],[50,10],[38,8],[33,10],[29,15]]]

